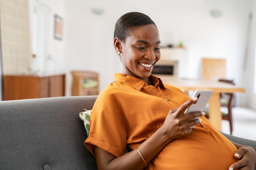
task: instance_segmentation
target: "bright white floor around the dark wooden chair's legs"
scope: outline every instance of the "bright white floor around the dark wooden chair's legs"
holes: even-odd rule
[[[233,107],[233,136],[242,137],[256,141],[256,111],[244,107]],[[221,108],[225,110],[225,108]],[[221,121],[222,131],[230,134],[229,122]]]

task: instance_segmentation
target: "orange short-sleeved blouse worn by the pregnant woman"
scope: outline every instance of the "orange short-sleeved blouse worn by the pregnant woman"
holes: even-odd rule
[[[153,85],[132,76],[115,74],[115,81],[97,98],[91,115],[90,134],[84,144],[94,155],[96,145],[115,155],[136,149],[165,120],[172,108],[189,97],[180,89],[150,76]],[[203,116],[187,136],[167,144],[148,164],[148,169],[228,169],[236,162],[236,147]]]

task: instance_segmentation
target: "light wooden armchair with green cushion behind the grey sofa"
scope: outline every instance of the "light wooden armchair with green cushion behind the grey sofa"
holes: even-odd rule
[[[71,71],[73,77],[72,96],[99,94],[99,74],[92,71]]]

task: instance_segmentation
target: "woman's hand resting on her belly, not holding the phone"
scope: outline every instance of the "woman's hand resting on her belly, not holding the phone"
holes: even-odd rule
[[[256,152],[251,146],[240,147],[237,152],[234,154],[236,159],[239,159],[234,164],[230,165],[228,170],[233,169],[248,169],[254,170],[255,161],[256,161]]]

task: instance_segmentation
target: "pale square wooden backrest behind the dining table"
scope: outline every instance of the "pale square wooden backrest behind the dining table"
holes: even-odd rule
[[[226,78],[226,59],[203,58],[202,78],[219,80]]]

